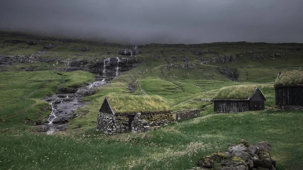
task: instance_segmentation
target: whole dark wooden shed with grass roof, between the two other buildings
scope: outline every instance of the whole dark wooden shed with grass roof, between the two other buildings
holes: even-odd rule
[[[266,100],[256,86],[232,86],[219,90],[214,100],[216,113],[264,110]]]

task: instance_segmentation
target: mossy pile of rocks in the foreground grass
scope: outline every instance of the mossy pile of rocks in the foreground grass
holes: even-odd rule
[[[218,151],[198,161],[199,169],[216,170],[275,170],[276,161],[270,155],[268,142],[249,145],[245,140],[229,144],[228,152]]]

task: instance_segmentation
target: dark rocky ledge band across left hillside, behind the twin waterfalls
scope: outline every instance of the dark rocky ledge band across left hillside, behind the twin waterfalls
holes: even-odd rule
[[[48,44],[49,45],[49,44]],[[49,48],[52,45],[48,46]],[[119,73],[129,71],[132,68],[135,68],[137,64],[141,63],[141,60],[136,56],[125,57],[111,57],[103,60],[92,60],[92,59],[42,59],[38,55],[10,55],[3,56],[0,55],[0,69],[5,69],[7,66],[12,66],[21,63],[55,63],[53,65],[55,70],[62,71],[77,71],[83,70],[96,75],[100,75],[107,80],[115,78]],[[65,68],[56,68],[57,65],[63,64]],[[38,66],[29,66],[24,69],[26,71],[36,71]],[[118,68],[118,69],[117,69]],[[118,72],[118,74],[117,74]]]

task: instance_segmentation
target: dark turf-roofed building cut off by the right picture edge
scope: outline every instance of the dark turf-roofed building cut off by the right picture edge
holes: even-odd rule
[[[282,110],[303,110],[303,70],[284,72],[275,83],[276,106]]]

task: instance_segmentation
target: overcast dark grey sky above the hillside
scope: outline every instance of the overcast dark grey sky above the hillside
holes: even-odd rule
[[[0,30],[130,44],[303,42],[302,0],[1,0]]]

